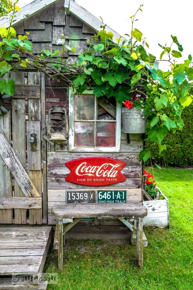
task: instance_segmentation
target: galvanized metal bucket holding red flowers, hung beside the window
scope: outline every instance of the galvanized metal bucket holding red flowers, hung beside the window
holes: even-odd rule
[[[146,118],[140,108],[121,108],[123,132],[132,134],[145,133]]]

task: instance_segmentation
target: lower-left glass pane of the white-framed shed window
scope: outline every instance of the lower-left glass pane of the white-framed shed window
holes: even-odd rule
[[[94,146],[94,122],[75,122],[75,146]]]

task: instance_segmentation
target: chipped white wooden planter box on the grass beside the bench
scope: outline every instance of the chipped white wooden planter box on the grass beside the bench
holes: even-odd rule
[[[142,189],[145,198],[151,198],[145,189]],[[147,216],[143,219],[145,227],[168,228],[170,225],[169,206],[167,197],[159,190],[164,199],[151,199],[143,201],[148,210]]]

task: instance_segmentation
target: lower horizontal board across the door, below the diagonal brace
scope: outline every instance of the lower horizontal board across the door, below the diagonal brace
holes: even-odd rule
[[[41,197],[0,197],[0,208],[42,208]],[[0,231],[1,234],[1,231]]]

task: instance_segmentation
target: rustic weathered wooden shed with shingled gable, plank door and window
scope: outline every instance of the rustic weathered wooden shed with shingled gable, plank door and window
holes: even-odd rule
[[[68,44],[76,48],[75,53],[68,51],[65,55],[69,63],[87,50],[90,38],[101,25],[101,21],[73,0],[35,0],[17,12],[15,19],[17,34],[30,32],[33,53],[41,53],[42,49],[54,51],[60,48],[56,41],[61,34],[69,37]],[[8,25],[6,18],[0,20],[0,26]],[[119,37],[110,27],[106,30],[112,31],[114,38]],[[53,226],[57,220],[51,215],[51,209],[61,208],[72,197],[81,202],[80,193],[83,200],[94,194],[95,198],[89,201],[96,203],[104,202],[107,191],[122,194],[121,202],[142,201],[142,163],[139,161],[142,136],[123,133],[119,104],[105,97],[96,98],[92,92],[78,97],[65,82],[53,81],[43,73],[21,67],[6,77],[14,79],[16,88],[11,111],[0,116],[3,145],[0,146],[0,229],[4,230],[8,224]],[[69,135],[62,143],[46,141],[50,138],[46,131],[48,112],[53,106],[62,106],[69,116]],[[32,133],[37,138],[35,152],[30,147]],[[83,157],[105,157],[126,163],[122,170],[125,180],[102,186],[69,182],[66,178],[70,170],[65,163]],[[11,230],[10,225],[8,229]],[[20,229],[17,228],[19,232]],[[49,246],[48,229],[45,253]],[[130,236],[128,227],[112,218],[82,219],[65,234],[72,239],[128,240]],[[3,237],[0,230],[0,242],[4,241]],[[10,274],[11,268],[1,270],[0,265],[0,272]]]

